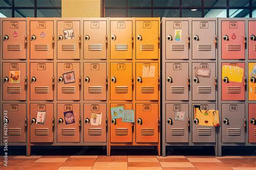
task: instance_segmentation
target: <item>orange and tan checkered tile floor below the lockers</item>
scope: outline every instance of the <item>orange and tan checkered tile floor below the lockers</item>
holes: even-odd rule
[[[256,169],[250,156],[10,156],[8,167],[0,160],[0,169]]]

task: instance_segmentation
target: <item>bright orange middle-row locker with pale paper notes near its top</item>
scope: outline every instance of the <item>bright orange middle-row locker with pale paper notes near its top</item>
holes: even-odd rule
[[[158,62],[136,63],[136,100],[158,100]]]

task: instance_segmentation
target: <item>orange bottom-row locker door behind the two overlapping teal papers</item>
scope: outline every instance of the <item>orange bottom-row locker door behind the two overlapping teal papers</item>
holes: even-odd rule
[[[132,103],[111,103],[110,108],[123,106],[124,110],[132,110]],[[133,123],[122,122],[122,119],[112,119],[110,124],[111,143],[132,143]]]

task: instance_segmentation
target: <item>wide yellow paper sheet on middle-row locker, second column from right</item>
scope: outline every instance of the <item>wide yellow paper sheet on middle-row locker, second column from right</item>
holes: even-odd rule
[[[222,77],[228,77],[228,81],[242,82],[242,75],[244,74],[244,69],[235,66],[223,66],[222,67]]]

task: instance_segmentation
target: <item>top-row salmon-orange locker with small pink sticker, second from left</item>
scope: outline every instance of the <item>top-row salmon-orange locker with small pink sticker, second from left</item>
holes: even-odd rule
[[[30,59],[54,58],[54,20],[44,19],[30,20]]]

